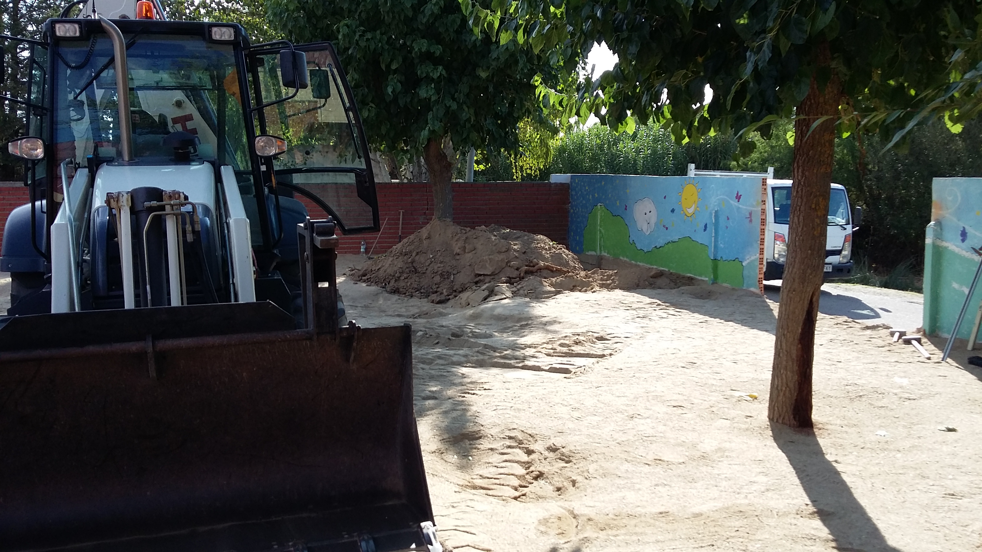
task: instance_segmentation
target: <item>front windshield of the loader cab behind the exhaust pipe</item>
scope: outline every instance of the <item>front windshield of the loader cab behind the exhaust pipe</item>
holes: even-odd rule
[[[137,160],[170,161],[163,138],[195,135],[196,158],[248,167],[245,118],[233,47],[197,36],[136,34],[129,49],[130,118]],[[120,151],[113,46],[105,34],[56,50],[54,141],[58,162]]]

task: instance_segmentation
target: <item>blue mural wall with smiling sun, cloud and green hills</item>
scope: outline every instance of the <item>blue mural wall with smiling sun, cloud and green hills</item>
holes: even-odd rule
[[[569,181],[573,252],[758,289],[760,178],[569,175]]]

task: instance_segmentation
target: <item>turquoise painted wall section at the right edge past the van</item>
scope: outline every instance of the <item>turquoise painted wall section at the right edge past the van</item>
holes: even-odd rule
[[[972,248],[982,248],[982,178],[936,178],[931,195],[924,240],[924,331],[949,337],[979,265]],[[957,337],[968,338],[980,301],[982,284]]]

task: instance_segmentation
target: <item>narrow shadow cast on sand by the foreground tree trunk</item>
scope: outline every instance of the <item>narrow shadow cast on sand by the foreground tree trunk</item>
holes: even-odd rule
[[[813,431],[793,430],[772,422],[771,435],[788,457],[818,518],[836,540],[836,550],[900,552],[887,542],[880,527],[852,494],[842,473],[826,458]]]

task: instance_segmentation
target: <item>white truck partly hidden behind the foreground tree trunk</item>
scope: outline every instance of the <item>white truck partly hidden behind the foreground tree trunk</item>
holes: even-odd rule
[[[766,173],[697,171],[689,164],[688,176],[754,176],[767,178],[767,231],[764,235],[764,280],[780,280],[788,258],[788,220],[791,217],[791,181],[776,180],[774,167]],[[833,184],[829,195],[829,230],[825,238],[825,277],[852,275],[852,231],[859,228],[862,209],[849,208],[846,188]],[[855,225],[855,226],[853,226]]]

